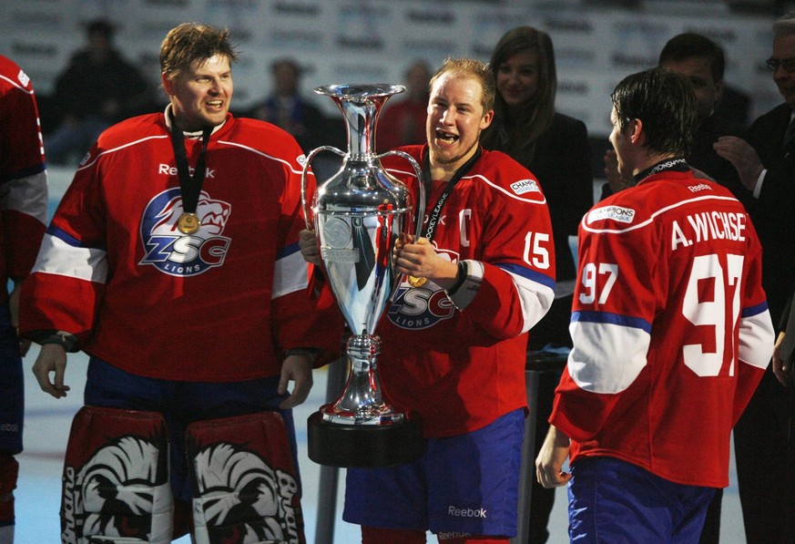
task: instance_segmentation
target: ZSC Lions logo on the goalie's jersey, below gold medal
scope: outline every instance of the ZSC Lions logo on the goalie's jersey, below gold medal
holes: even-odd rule
[[[195,276],[220,266],[229,251],[230,238],[221,236],[229,221],[229,202],[212,200],[201,191],[196,214],[201,226],[194,234],[177,228],[182,215],[179,189],[161,192],[149,200],[141,218],[141,241],[146,254],[141,264],[152,264],[171,276]]]

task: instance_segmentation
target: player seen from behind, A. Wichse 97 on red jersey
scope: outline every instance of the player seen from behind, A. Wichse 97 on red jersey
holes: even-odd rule
[[[569,483],[573,541],[698,542],[773,348],[761,247],[739,201],[683,159],[687,80],[647,70],[612,101],[618,169],[637,186],[580,223],[574,349],[536,476]]]

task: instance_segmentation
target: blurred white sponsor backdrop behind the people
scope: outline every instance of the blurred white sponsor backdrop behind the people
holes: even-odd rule
[[[488,60],[506,30],[530,25],[555,43],[558,109],[609,133],[608,96],[630,72],[657,63],[669,37],[692,31],[724,46],[726,80],[752,98],[751,118],[780,102],[764,59],[772,16],[729,14],[722,2],[646,0],[633,10],[588,0],[0,0],[0,51],[49,93],[84,25],[104,16],[119,27],[117,46],[159,81],[158,47],[168,29],[198,21],[229,27],[239,47],[235,103],[250,105],[270,87],[268,67],[281,56],[306,68],[304,94],[336,111],[311,89],[331,83],[403,83],[415,58]],[[597,3],[596,3],[597,4]],[[687,15],[686,15],[687,14]],[[90,91],[90,89],[88,89]],[[393,98],[398,99],[398,98]]]

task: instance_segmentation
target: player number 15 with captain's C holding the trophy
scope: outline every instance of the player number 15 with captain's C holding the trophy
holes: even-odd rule
[[[425,542],[428,529],[445,544],[516,534],[527,335],[554,298],[555,246],[538,180],[480,147],[494,92],[483,63],[447,60],[431,79],[427,144],[400,148],[423,166],[428,220],[395,246],[405,277],[379,325],[379,369],[428,446],[413,463],[348,468],[343,518],[365,544]],[[416,189],[403,160],[383,166]],[[301,238],[319,262],[314,233]]]

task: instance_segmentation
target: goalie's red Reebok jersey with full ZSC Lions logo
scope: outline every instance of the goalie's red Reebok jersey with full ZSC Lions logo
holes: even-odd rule
[[[185,145],[192,173],[201,140]],[[285,349],[338,350],[341,321],[308,298],[297,243],[302,159],[280,128],[229,116],[209,139],[189,235],[165,115],[108,128],[47,230],[23,331],[67,331],[127,372],[189,381],[278,375]]]

